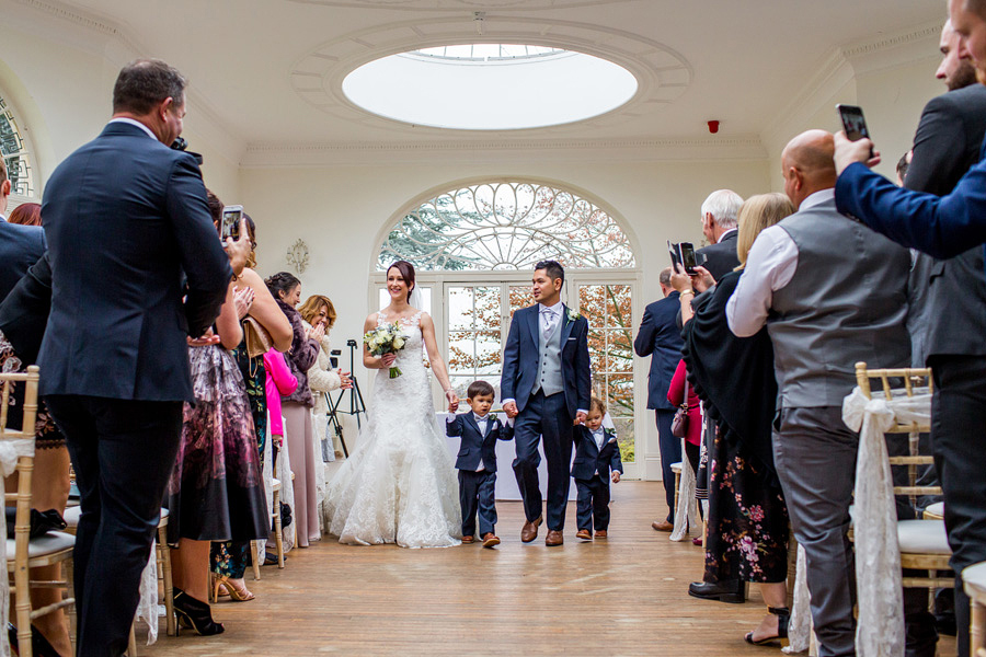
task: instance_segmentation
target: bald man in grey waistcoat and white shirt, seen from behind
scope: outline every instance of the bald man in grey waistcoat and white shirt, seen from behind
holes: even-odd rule
[[[846,537],[859,435],[842,422],[855,365],[907,367],[910,254],[836,210],[833,136],[810,130],[781,155],[798,212],[764,230],[726,307],[740,337],[765,324],[778,383],[773,458],[807,556],[819,655],[855,655]]]

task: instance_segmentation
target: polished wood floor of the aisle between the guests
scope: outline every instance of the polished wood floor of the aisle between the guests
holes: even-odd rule
[[[219,636],[164,635],[138,655],[781,655],[743,634],[765,613],[690,598],[701,550],[651,529],[666,512],[657,482],[612,486],[610,539],[520,542],[520,503],[497,504],[494,550],[341,545],[324,537],[266,566],[250,602],[220,601]],[[142,633],[141,633],[142,634]],[[948,654],[947,652],[943,654]],[[951,653],[954,654],[954,653]]]

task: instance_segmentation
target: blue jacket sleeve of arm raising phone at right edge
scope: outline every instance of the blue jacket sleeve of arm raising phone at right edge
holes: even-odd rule
[[[986,145],[986,142],[984,142]],[[904,246],[948,258],[986,242],[986,160],[948,196],[913,192],[855,162],[836,181],[836,207]]]

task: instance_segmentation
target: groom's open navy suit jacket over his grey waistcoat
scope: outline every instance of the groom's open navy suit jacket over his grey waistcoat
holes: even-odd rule
[[[524,411],[534,391],[541,358],[539,304],[514,312],[511,331],[503,348],[503,377],[500,381],[502,399],[514,400],[517,411]],[[578,408],[588,411],[593,394],[592,371],[588,357],[588,322],[580,316],[569,319],[569,308],[562,304],[562,381],[565,387],[565,405],[569,415],[575,417]]]

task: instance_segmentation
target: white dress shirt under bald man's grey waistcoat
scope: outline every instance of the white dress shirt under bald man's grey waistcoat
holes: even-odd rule
[[[804,211],[835,198],[835,189],[815,192],[798,211]],[[798,244],[780,226],[764,229],[754,241],[743,275],[726,302],[726,321],[737,337],[749,337],[767,324],[773,292],[794,278],[798,269]]]

